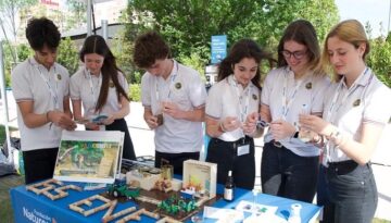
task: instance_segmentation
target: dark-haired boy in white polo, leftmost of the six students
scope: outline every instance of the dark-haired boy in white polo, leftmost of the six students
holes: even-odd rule
[[[33,18],[26,38],[35,54],[12,71],[11,86],[18,108],[25,183],[30,184],[53,176],[61,131],[76,124],[70,109],[70,74],[55,62],[58,27],[46,17]]]

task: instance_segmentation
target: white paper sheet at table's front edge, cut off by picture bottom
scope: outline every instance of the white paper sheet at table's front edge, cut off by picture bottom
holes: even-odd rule
[[[240,222],[244,219],[241,211],[207,206],[204,207],[203,218],[217,219],[218,223]]]

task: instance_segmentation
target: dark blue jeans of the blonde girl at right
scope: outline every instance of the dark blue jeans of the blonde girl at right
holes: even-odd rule
[[[370,164],[342,161],[330,163],[326,170],[330,210],[324,222],[370,223],[375,215],[378,194]]]

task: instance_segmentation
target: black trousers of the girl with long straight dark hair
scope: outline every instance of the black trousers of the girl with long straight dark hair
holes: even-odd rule
[[[106,131],[121,131],[125,133],[123,158],[136,160],[135,149],[131,143],[130,134],[125,119],[115,120],[112,124],[105,126]]]

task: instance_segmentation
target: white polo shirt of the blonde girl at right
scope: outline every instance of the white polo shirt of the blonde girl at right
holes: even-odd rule
[[[363,71],[349,89],[344,82],[340,83],[333,84],[326,95],[324,117],[336,125],[344,137],[360,140],[363,123],[388,123],[391,116],[391,90],[369,67]],[[350,160],[331,141],[326,147],[325,158],[328,162]]]

